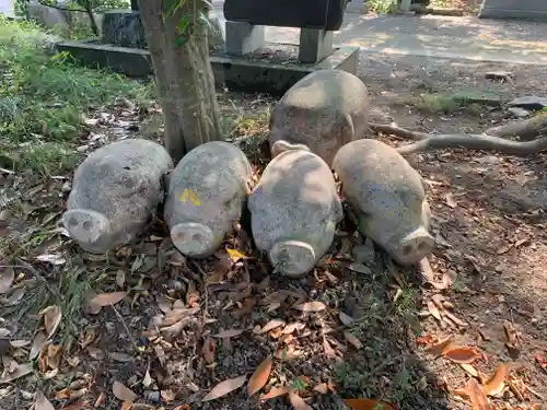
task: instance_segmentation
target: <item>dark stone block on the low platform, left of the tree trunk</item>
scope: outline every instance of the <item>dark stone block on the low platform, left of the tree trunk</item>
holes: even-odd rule
[[[101,43],[118,47],[147,48],[140,13],[133,10],[105,11]]]

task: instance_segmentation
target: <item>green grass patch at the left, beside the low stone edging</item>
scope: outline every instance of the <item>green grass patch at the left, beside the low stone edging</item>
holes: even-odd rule
[[[0,157],[46,174],[75,164],[73,144],[91,109],[118,96],[150,97],[146,84],[55,54],[57,39],[31,22],[0,17]]]

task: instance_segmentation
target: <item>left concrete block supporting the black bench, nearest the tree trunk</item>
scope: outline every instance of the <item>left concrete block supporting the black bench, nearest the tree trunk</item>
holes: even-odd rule
[[[226,52],[234,56],[244,56],[253,52],[266,43],[264,25],[229,22],[226,28]]]

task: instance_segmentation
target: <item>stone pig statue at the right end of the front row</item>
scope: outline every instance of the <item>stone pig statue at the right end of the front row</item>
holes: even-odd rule
[[[431,212],[420,174],[393,148],[364,139],[342,147],[333,163],[359,231],[400,265],[431,253]]]

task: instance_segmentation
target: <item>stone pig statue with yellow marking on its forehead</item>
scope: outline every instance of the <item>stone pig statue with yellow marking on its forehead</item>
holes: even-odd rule
[[[170,179],[164,215],[173,244],[186,256],[212,255],[241,218],[253,180],[248,160],[231,143],[207,142]]]

